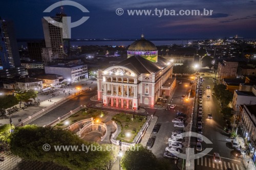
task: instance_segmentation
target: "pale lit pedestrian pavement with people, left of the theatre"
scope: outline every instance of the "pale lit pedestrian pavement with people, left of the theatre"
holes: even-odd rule
[[[91,83],[93,82],[93,83]],[[82,85],[83,84],[83,85]],[[87,85],[86,85],[87,84]],[[86,81],[80,81],[78,83],[75,83],[73,85],[70,86],[70,89],[73,88],[73,90],[70,91],[70,95],[74,94],[75,92],[78,92],[76,90],[76,86],[81,86],[82,89],[86,89],[89,88],[91,86],[91,88],[94,88],[97,86],[97,82],[88,79]],[[61,90],[63,90],[62,88],[60,88]],[[64,89],[65,91],[68,90],[69,88]],[[52,96],[52,98],[50,97],[51,94],[38,94],[38,99],[40,101],[40,105],[33,105],[33,106],[29,106],[27,108],[25,108],[24,110],[19,108],[19,104],[16,105],[17,108],[19,108],[19,110],[15,113],[6,115],[6,116],[0,116],[0,123],[1,124],[9,124],[10,123],[10,118],[12,118],[12,124],[17,125],[18,124],[18,119],[26,119],[27,117],[37,113],[38,111],[45,109],[47,107],[49,107],[50,105],[54,104],[55,102],[60,101],[61,99],[69,96],[68,92],[63,93],[63,91],[57,91],[53,94],[55,94],[55,96]],[[62,93],[61,93],[62,92]],[[36,99],[37,100],[37,99]],[[51,100],[51,102],[48,102],[48,100]],[[23,107],[24,104],[22,103],[21,107]]]

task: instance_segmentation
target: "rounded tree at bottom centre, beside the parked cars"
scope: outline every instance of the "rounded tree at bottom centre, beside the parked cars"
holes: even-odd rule
[[[124,170],[160,170],[169,169],[161,165],[160,161],[152,153],[141,144],[136,144],[135,147],[130,148],[125,152],[121,165]]]

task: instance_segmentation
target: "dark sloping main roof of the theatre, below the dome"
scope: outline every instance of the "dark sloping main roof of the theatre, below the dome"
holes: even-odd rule
[[[116,66],[124,66],[139,74],[154,74],[169,63],[168,60],[158,57],[156,63],[148,61],[141,56],[132,56],[121,61]]]

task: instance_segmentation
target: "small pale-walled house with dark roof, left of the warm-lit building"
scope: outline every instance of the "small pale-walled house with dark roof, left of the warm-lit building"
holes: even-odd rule
[[[42,91],[42,80],[39,79],[32,79],[32,78],[25,78],[22,80],[18,80],[16,83],[16,88],[20,90],[36,90]]]

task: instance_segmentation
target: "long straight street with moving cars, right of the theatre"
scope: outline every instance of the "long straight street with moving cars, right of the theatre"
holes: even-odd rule
[[[210,85],[210,89],[206,86]],[[203,81],[203,133],[202,135],[207,137],[213,144],[202,143],[203,149],[213,148],[207,155],[195,160],[197,170],[203,169],[226,169],[231,167],[233,170],[241,170],[244,167],[241,164],[241,158],[234,157],[230,154],[232,151],[229,135],[224,131],[225,122],[222,114],[220,113],[220,104],[214,95],[212,95],[212,88],[214,87],[211,78],[205,78]],[[210,95],[210,99],[206,99],[206,96]],[[207,118],[207,114],[212,114],[212,119]],[[196,115],[196,113],[195,113]],[[195,119],[194,119],[195,120]],[[194,128],[197,128],[197,122],[194,122]],[[196,141],[194,140],[194,145]],[[214,162],[214,153],[219,153],[221,157],[221,163]]]

